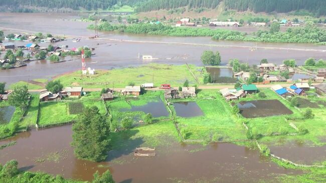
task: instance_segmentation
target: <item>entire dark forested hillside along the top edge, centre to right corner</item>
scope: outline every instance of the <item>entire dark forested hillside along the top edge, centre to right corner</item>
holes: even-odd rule
[[[214,9],[222,1],[225,3],[225,8],[238,11],[287,13],[307,10],[315,15],[326,15],[326,0],[148,0],[143,2],[136,11],[148,12],[181,7]]]

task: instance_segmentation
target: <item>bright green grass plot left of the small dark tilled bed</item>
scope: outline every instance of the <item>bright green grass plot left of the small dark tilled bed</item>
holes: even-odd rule
[[[61,124],[76,119],[76,116],[68,114],[67,102],[44,102],[40,104],[38,124]]]

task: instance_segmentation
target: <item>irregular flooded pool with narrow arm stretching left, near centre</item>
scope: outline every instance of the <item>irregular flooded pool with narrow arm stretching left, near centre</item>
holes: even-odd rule
[[[164,105],[164,103],[158,99],[157,102],[148,102],[141,106],[131,106],[131,109],[121,109],[121,112],[126,111],[143,111],[144,113],[151,113],[153,117],[169,116],[169,113]]]

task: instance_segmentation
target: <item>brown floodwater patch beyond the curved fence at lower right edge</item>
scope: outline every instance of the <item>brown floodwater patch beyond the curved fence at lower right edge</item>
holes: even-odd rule
[[[315,146],[298,140],[268,147],[273,154],[296,163],[313,164],[326,160],[326,145]]]

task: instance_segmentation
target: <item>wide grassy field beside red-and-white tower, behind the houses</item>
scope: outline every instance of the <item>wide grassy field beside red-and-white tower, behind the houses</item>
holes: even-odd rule
[[[197,71],[197,67],[190,66],[194,74],[202,81],[201,74]],[[154,77],[153,77],[154,75]],[[154,79],[154,80],[153,80]],[[143,83],[152,83],[155,86],[169,83],[172,86],[182,86],[188,79],[190,85],[197,84],[193,75],[190,73],[186,65],[164,65],[164,64],[148,64],[140,67],[131,67],[113,70],[98,70],[94,76],[83,77],[84,88],[124,88],[129,82],[135,85]],[[81,86],[80,71],[57,77],[64,86]]]

